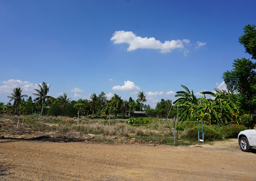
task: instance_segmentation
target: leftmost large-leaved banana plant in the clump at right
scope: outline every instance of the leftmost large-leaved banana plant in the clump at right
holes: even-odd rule
[[[173,102],[175,106],[179,106],[181,108],[181,117],[180,121],[189,121],[193,120],[196,116],[198,116],[201,119],[200,115],[198,114],[198,99],[194,96],[193,90],[190,93],[188,87],[185,85],[181,85],[185,91],[178,91],[176,92],[177,95],[175,97],[181,97]]]

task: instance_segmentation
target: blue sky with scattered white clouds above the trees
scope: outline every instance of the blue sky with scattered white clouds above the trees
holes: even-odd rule
[[[14,87],[73,100],[102,91],[147,104],[225,89],[222,74],[250,58],[238,38],[256,1],[0,1],[0,102]],[[32,96],[32,98],[34,98]]]

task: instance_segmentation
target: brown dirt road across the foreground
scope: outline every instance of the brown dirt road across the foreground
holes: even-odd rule
[[[0,180],[256,180],[256,153],[213,144],[52,143],[0,139]]]

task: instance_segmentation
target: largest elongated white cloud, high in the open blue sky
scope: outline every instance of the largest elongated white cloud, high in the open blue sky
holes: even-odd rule
[[[116,31],[112,38],[114,44],[128,43],[129,47],[127,51],[133,51],[136,49],[156,49],[160,50],[161,53],[171,52],[174,49],[184,49],[184,44],[188,44],[190,41],[188,39],[177,39],[171,41],[165,41],[162,43],[159,40],[155,40],[154,37],[145,37],[136,36],[131,31]]]

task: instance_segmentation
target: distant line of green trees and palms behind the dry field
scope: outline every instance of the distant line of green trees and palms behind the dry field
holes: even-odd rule
[[[157,103],[156,108],[152,109],[149,104],[144,104],[147,99],[144,92],[137,94],[137,99],[133,100],[131,97],[129,100],[123,100],[119,95],[114,94],[111,99],[107,99],[106,94],[101,92],[99,96],[93,93],[90,99],[78,99],[71,100],[68,98],[67,93],[54,98],[48,96],[50,85],[46,82],[38,84],[39,89],[34,89],[36,93],[32,93],[36,96],[32,100],[30,96],[22,94],[21,87],[15,87],[12,90],[11,96],[8,96],[9,101],[13,101],[13,105],[0,104],[1,112],[7,112],[10,114],[40,114],[50,116],[68,116],[76,117],[78,114],[82,116],[132,116],[132,111],[145,111],[148,116],[151,117],[166,117],[167,109],[171,108],[171,100]],[[24,98],[28,98],[26,101]],[[166,109],[166,110],[165,110]]]

